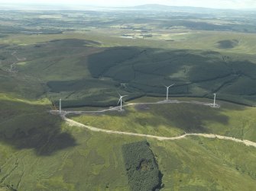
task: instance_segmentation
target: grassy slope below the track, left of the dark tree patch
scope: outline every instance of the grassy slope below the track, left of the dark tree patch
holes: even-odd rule
[[[2,95],[0,187],[18,190],[128,190],[121,146],[108,135],[66,126],[47,102]],[[99,139],[101,140],[99,142]],[[119,140],[119,141],[118,141]],[[136,138],[127,138],[127,142]],[[100,147],[99,147],[100,145]],[[109,176],[112,174],[112,176]]]

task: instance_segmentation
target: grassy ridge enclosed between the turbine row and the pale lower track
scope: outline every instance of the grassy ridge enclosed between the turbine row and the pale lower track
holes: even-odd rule
[[[142,102],[160,98],[141,98]],[[177,98],[177,100],[199,100]],[[137,100],[138,101],[138,100]],[[212,100],[203,100],[212,102]],[[143,104],[125,107],[125,112],[73,116],[89,126],[138,132],[150,135],[176,136],[184,132],[206,132],[256,141],[254,107],[218,101],[219,109],[195,103]]]

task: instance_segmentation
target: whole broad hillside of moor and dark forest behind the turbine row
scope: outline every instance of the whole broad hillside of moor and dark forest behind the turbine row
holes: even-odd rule
[[[256,100],[254,56],[221,50],[102,46],[104,42],[76,38],[6,46],[0,65],[2,91],[25,98],[56,101],[61,97],[63,107],[109,106],[117,101],[116,91],[129,94],[128,99],[145,94],[163,97],[164,84],[175,83],[170,90],[173,97],[217,93],[219,99],[235,103],[254,105]]]

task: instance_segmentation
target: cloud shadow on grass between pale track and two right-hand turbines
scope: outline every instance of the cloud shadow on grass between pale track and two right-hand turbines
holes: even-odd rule
[[[151,119],[136,119],[137,123],[151,126],[175,126],[184,132],[211,132],[205,126],[206,121],[221,123],[228,126],[228,116],[221,109],[200,106],[192,103],[167,104],[160,106],[148,105],[153,114]]]

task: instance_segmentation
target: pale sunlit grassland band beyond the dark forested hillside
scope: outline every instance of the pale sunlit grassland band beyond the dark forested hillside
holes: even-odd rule
[[[39,34],[39,35],[24,35],[14,34],[11,37],[1,38],[0,42],[9,44],[29,45],[34,43],[47,42],[56,39],[70,39],[76,38],[81,40],[95,40],[102,43],[101,46],[149,46],[152,48],[165,48],[165,49],[211,49],[214,51],[221,51],[223,53],[241,53],[254,55],[256,36],[254,33],[235,33],[225,31],[200,31],[197,33],[190,33],[191,30],[177,31],[177,36],[183,35],[186,38],[183,40],[164,41],[164,40],[130,40],[120,38],[116,29],[96,29],[91,31],[75,31],[64,32],[61,34]],[[181,33],[181,34],[180,34]],[[108,35],[106,35],[108,34]],[[118,37],[116,37],[118,36]],[[221,40],[238,40],[238,46],[234,49],[219,49],[219,41]],[[207,43],[206,43],[207,42]]]

